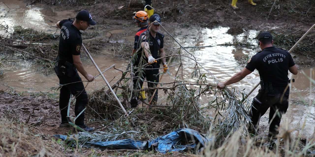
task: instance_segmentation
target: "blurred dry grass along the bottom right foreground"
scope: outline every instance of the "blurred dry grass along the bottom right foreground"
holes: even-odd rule
[[[314,140],[313,138],[306,142],[305,139],[296,138],[288,142],[281,138],[278,139],[276,148],[269,150],[266,144],[267,139],[244,138],[242,137],[242,130],[238,130],[232,135],[230,134],[222,145],[213,147],[213,143],[210,143],[200,154],[205,157],[314,157]]]

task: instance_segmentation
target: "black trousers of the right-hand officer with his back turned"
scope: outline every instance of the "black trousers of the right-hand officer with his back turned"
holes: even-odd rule
[[[265,91],[259,90],[252,101],[251,111],[249,112],[249,117],[251,124],[249,123],[248,131],[254,135],[257,135],[259,130],[259,121],[262,115],[266,113],[270,107],[269,112],[269,139],[277,139],[279,134],[279,126],[281,117],[286,113],[288,109],[289,100],[289,89],[284,91],[285,87],[273,87],[273,92],[266,93]],[[284,93],[285,92],[285,93]],[[282,97],[284,93],[284,96]],[[254,127],[254,128],[253,128]],[[256,129],[256,131],[255,131]]]

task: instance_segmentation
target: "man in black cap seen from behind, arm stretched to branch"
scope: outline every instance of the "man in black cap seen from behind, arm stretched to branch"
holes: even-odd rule
[[[258,45],[262,51],[251,57],[243,70],[218,84],[217,88],[223,89],[226,85],[236,83],[257,69],[261,89],[252,101],[249,113],[252,126],[249,125],[249,133],[257,135],[260,117],[270,107],[268,138],[274,144],[279,133],[281,116],[288,109],[289,88],[285,90],[289,82],[288,70],[296,75],[298,68],[288,51],[273,46],[269,32],[261,32],[258,35]]]

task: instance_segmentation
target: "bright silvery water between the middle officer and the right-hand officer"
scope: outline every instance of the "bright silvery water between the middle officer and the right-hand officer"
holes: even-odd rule
[[[229,35],[226,31],[229,30],[227,27],[217,27],[214,29],[201,29],[199,30],[202,33],[196,33],[196,30],[190,29],[180,29],[177,30],[174,34],[176,40],[180,41],[182,46],[209,46],[213,47],[204,47],[203,49],[194,48],[188,49],[191,53],[194,54],[198,63],[200,63],[205,69],[209,70],[217,80],[224,81],[232,77],[235,73],[240,71],[245,67],[248,56],[255,54],[255,51],[248,49],[235,48],[235,46],[215,46],[219,44],[230,43],[233,39],[238,39],[239,41],[253,42],[251,39],[254,39],[257,35],[257,31],[250,30],[248,32],[242,33],[240,35]],[[191,37],[195,35],[195,38]],[[246,41],[250,40],[250,41]],[[202,42],[200,42],[202,41]],[[188,55],[185,52],[182,52],[184,55]],[[192,72],[194,61],[188,58],[183,58],[184,67]],[[191,73],[190,72],[190,73]],[[201,73],[207,73],[205,70],[201,69]],[[253,73],[247,76],[246,80],[242,80],[236,84],[233,84],[234,87],[239,87],[240,89],[247,89],[248,92],[253,88],[253,84],[259,82],[258,72],[254,71]],[[195,81],[195,79],[186,76],[185,79],[190,81]],[[212,81],[212,80],[210,80]],[[255,94],[255,93],[253,93]]]

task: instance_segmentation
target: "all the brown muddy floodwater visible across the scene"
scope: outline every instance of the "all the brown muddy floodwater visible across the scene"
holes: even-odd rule
[[[57,12],[52,8],[47,6],[25,6],[25,3],[22,3],[17,0],[11,1],[1,1],[1,20],[5,21],[9,25],[9,30],[13,26],[23,24],[23,27],[33,28],[35,30],[43,31],[56,31],[54,24],[60,19],[66,19],[69,17],[74,17],[75,13],[73,11],[63,11]],[[3,10],[4,9],[4,10]],[[3,16],[5,15],[5,16]],[[35,19],[36,18],[36,19]],[[214,29],[189,29],[181,28],[173,30],[171,26],[167,27],[168,31],[172,35],[175,35],[176,40],[182,44],[182,46],[212,46],[204,48],[187,48],[187,51],[192,53],[196,57],[196,61],[205,69],[209,70],[215,78],[221,82],[224,81],[235,73],[240,71],[245,65],[248,59],[248,56],[252,56],[256,53],[257,50],[244,49],[240,46],[216,46],[219,44],[225,44],[232,41],[238,41],[240,43],[246,43],[257,45],[254,40],[257,35],[257,31],[249,30],[246,33],[232,36],[226,33],[229,28],[217,27]],[[116,38],[111,38],[110,42],[133,42],[133,34],[137,30],[136,27],[123,27],[115,26],[115,28],[109,28],[108,32],[104,33],[104,36],[109,36],[112,34]],[[109,33],[110,32],[110,33]],[[1,32],[0,32],[1,33]],[[163,30],[162,33],[166,34]],[[119,40],[115,40],[119,39]],[[84,42],[84,41],[83,41]],[[175,42],[174,42],[175,43]],[[174,44],[174,46],[177,46]],[[177,46],[179,47],[179,46]],[[101,71],[115,64],[115,68],[125,70],[128,64],[128,60],[113,58],[112,53],[115,53],[111,48],[105,48],[101,52],[103,54],[97,54],[92,56],[99,66]],[[170,52],[166,52],[170,55]],[[188,53],[182,51],[183,55],[189,56]],[[98,74],[92,62],[89,58],[82,55],[83,65],[85,69],[92,75],[96,76]],[[183,67],[184,67],[184,79],[188,82],[194,83],[195,78],[191,78],[192,69],[195,62],[190,58],[182,58]],[[173,65],[178,62],[172,63]],[[58,87],[58,78],[54,73],[43,75],[38,69],[40,67],[37,65],[32,65],[29,62],[10,62],[4,63],[4,77],[0,80],[0,89],[3,90],[15,90],[15,91],[28,91],[28,92],[48,92],[51,88]],[[281,123],[281,128],[284,128],[286,123],[289,123],[289,127],[294,129],[293,134],[297,134],[298,131],[303,134],[304,137],[314,136],[314,126],[315,126],[315,110],[314,110],[314,84],[310,83],[310,80],[307,76],[311,76],[312,79],[315,79],[314,68],[300,70],[297,75],[289,75],[289,78],[295,78],[295,83],[292,84],[292,99],[293,100],[302,100],[305,101],[305,106],[303,105],[294,105],[294,103],[288,109],[288,113],[284,116],[283,122]],[[173,82],[175,73],[178,69],[178,66],[170,68],[170,75],[165,75],[161,82],[168,83]],[[302,71],[307,75],[303,74]],[[201,73],[207,74],[207,82],[215,81],[205,70],[201,68]],[[115,82],[121,76],[121,72],[113,68],[107,70],[104,73],[108,82]],[[242,81],[233,84],[233,87],[239,89],[244,89],[244,91],[249,92],[258,82],[258,72],[254,71],[249,74]],[[82,77],[82,76],[81,76]],[[85,80],[83,78],[83,80]],[[87,82],[84,82],[87,84]],[[105,86],[103,79],[98,76],[95,81],[91,82],[87,86],[87,91],[93,91],[95,89],[100,89]],[[258,89],[256,89],[251,95],[251,99],[257,94]],[[50,93],[58,93],[58,91],[50,91]],[[164,95],[159,93],[160,100],[163,100]],[[162,101],[163,102],[163,101]],[[201,100],[202,104],[206,103],[207,100]],[[308,106],[312,104],[312,106]],[[267,115],[267,113],[266,113]],[[261,126],[268,125],[268,116],[263,116],[261,121]],[[303,125],[305,122],[306,125]],[[305,129],[301,131],[301,128],[305,126]],[[281,134],[281,131],[280,131]]]

